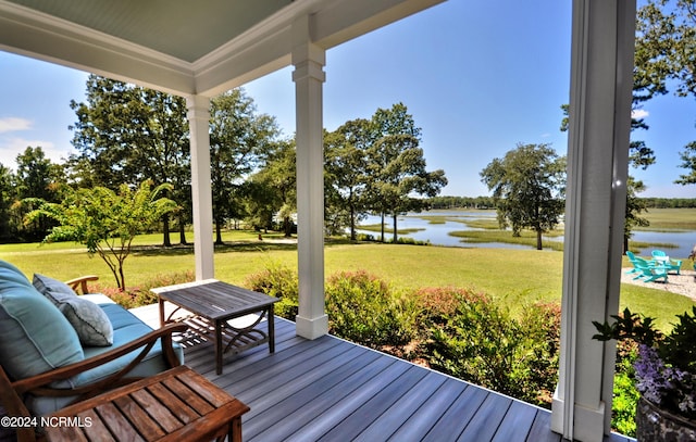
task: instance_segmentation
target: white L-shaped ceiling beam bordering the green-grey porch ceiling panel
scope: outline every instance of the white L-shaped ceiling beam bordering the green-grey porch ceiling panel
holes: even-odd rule
[[[323,49],[444,0],[296,0],[210,54],[188,63],[0,0],[0,49],[178,96],[214,97],[290,64],[291,24],[309,16]]]

